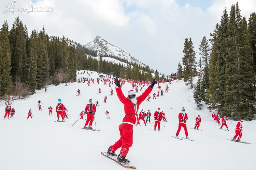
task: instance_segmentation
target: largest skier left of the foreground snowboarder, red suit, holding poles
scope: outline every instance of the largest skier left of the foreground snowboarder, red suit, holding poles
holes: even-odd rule
[[[85,122],[84,129],[92,130],[93,128],[91,127],[91,125],[93,125],[94,115],[96,113],[96,106],[95,104],[93,104],[92,99],[90,99],[89,104],[86,105],[84,110],[84,115],[85,113],[87,113],[87,118],[86,118],[87,120]],[[87,127],[88,123],[89,123],[89,126]]]

